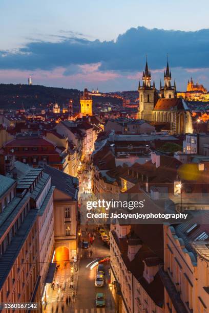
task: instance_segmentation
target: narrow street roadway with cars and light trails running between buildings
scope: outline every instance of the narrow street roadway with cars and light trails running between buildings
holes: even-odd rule
[[[91,194],[91,172],[89,166],[79,175],[79,204],[81,209],[81,235],[82,240],[89,241],[88,233],[92,233],[93,229],[97,226],[92,220],[89,225],[86,225],[86,201],[92,199]],[[105,313],[114,312],[113,299],[110,299],[109,289],[109,261],[103,263],[105,266],[105,286],[95,287],[95,277],[97,265],[91,270],[90,267],[96,262],[98,258],[107,258],[110,254],[110,249],[103,243],[98,232],[96,232],[95,240],[89,248],[92,250],[92,256],[84,249],[81,249],[81,258],[79,262],[78,284],[76,302],[74,303],[72,312],[75,313]],[[91,263],[91,264],[89,264]],[[89,266],[88,266],[89,264]],[[88,267],[87,267],[88,266]],[[106,306],[103,308],[96,307],[96,294],[103,293],[106,297]]]

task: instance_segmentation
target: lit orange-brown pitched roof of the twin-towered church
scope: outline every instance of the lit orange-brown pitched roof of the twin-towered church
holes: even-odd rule
[[[178,110],[188,110],[187,104],[182,98],[158,99],[154,110],[170,110],[176,108]]]

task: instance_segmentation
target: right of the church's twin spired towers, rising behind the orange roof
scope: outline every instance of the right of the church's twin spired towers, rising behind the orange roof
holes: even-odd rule
[[[171,85],[172,77],[169,69],[169,58],[167,61],[166,72],[164,72],[164,87],[160,85],[160,96],[161,98],[176,98],[176,82],[174,85]]]

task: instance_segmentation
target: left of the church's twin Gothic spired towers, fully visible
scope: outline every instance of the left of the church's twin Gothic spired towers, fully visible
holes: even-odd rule
[[[139,81],[139,108],[138,108],[138,119],[152,121],[153,113],[152,110],[155,106],[157,92],[155,88],[155,82],[151,85],[151,73],[148,69],[148,60],[145,65],[145,71],[142,76],[142,86]]]

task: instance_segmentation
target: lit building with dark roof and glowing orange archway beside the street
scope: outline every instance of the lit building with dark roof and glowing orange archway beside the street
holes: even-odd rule
[[[44,172],[51,176],[54,190],[55,261],[64,267],[77,260],[78,180],[49,166]],[[62,182],[62,184],[60,184]]]

